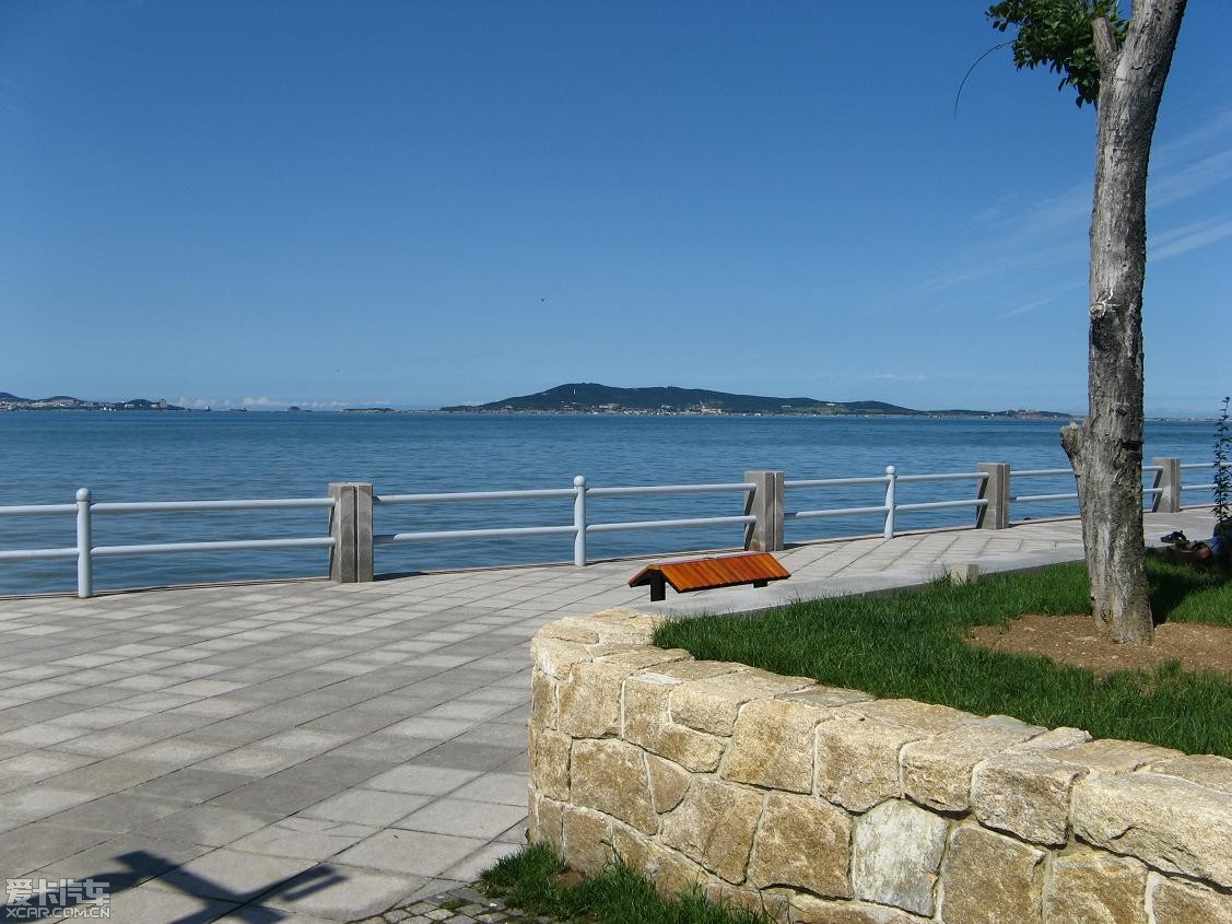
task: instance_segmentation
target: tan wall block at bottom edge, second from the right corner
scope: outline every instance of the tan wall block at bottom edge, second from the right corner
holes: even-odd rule
[[[1098,850],[1058,854],[1044,886],[1044,919],[1147,924],[1147,867]]]

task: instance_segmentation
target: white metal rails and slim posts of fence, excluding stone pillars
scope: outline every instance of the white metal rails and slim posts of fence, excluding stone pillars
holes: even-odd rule
[[[1174,472],[1185,471],[1210,471],[1214,468],[1209,463],[1181,464],[1179,460],[1157,460],[1168,463]],[[1011,471],[1009,466],[998,463],[997,466],[982,464],[981,468],[1005,469],[1008,479],[1018,478],[1062,478],[1072,477],[1068,468],[1040,468]],[[1154,474],[1157,483],[1164,477],[1165,467],[1154,464],[1145,466],[1143,472]],[[897,527],[897,516],[902,514],[914,514],[924,511],[951,510],[961,508],[973,508],[979,517],[989,508],[989,500],[983,496],[984,490],[991,490],[989,472],[952,472],[936,474],[899,474],[894,466],[887,466],[885,474],[854,478],[819,478],[801,480],[782,480],[782,473],[756,472],[745,477],[763,478],[776,474],[777,484],[782,485],[782,492],[777,488],[769,492],[776,496],[770,498],[769,505],[754,503],[759,493],[759,483],[731,482],[717,484],[659,484],[659,485],[628,485],[628,487],[591,487],[586,484],[583,476],[573,479],[573,485],[568,488],[526,489],[526,490],[484,490],[484,492],[447,492],[447,493],[421,493],[421,494],[372,494],[371,485],[360,484],[371,496],[372,508],[370,514],[376,513],[376,508],[394,508],[399,505],[452,505],[468,503],[525,503],[538,500],[570,500],[572,519],[564,522],[538,524],[525,526],[478,526],[474,529],[439,529],[404,532],[376,532],[372,526],[372,516],[359,516],[354,511],[346,514],[351,516],[349,540],[342,540],[345,535],[339,526],[344,516],[344,509],[338,496],[328,498],[281,498],[281,499],[255,499],[255,500],[166,500],[166,501],[124,501],[124,503],[95,503],[89,489],[80,489],[73,504],[28,504],[0,506],[0,521],[4,517],[23,516],[60,516],[74,515],[75,517],[75,543],[69,547],[47,547],[30,549],[5,549],[0,551],[0,563],[25,562],[38,559],[76,559],[78,595],[90,596],[94,593],[94,559],[116,556],[150,556],[166,553],[200,553],[200,552],[232,552],[232,551],[261,551],[261,549],[296,549],[296,548],[329,548],[331,556],[345,549],[347,543],[367,548],[366,564],[361,564],[354,572],[359,577],[340,577],[334,574],[335,580],[363,580],[372,575],[372,548],[377,546],[394,546],[416,542],[446,542],[466,540],[490,540],[490,538],[527,538],[527,537],[572,537],[573,561],[577,565],[585,565],[586,538],[594,535],[606,535],[615,532],[633,532],[646,530],[680,530],[718,526],[743,526],[747,530],[747,538],[753,530],[763,530],[763,537],[771,545],[769,548],[782,547],[782,524],[785,521],[835,519],[835,517],[883,517],[882,535],[892,537]],[[998,476],[999,478],[1000,476]],[[1179,492],[1210,490],[1214,484],[1180,484],[1179,474],[1167,476],[1172,480],[1170,489],[1174,492],[1169,503],[1177,503]],[[973,482],[977,490],[976,496],[955,498],[944,500],[920,500],[901,503],[901,485],[914,485],[942,482]],[[330,493],[339,485],[331,485]],[[352,485],[354,487],[354,485]],[[816,509],[786,509],[786,492],[801,492],[812,489],[846,489],[873,487],[883,489],[880,504],[865,506],[841,508],[816,508]],[[1061,500],[1074,500],[1077,492],[1052,493],[1052,494],[1010,494],[1009,484],[1002,487],[1004,492],[1003,506],[1008,510],[1010,503],[1050,503]],[[589,511],[591,498],[639,498],[639,496],[664,496],[664,495],[691,495],[702,493],[727,493],[740,494],[744,500],[743,515],[719,516],[690,516],[680,519],[647,519],[647,520],[604,520],[594,521]],[[1163,488],[1143,488],[1147,495],[1159,496]],[[329,536],[308,536],[293,538],[249,538],[249,540],[217,540],[203,542],[143,542],[131,545],[96,546],[94,543],[94,517],[96,515],[140,515],[140,514],[174,514],[174,513],[219,513],[243,510],[296,510],[296,509],[329,509],[331,511],[331,527]],[[1170,508],[1177,509],[1177,508]],[[769,511],[774,511],[772,514]],[[766,522],[759,524],[760,516],[766,517]],[[781,520],[775,522],[775,517]],[[563,517],[562,517],[563,519]],[[1008,515],[1005,517],[1008,524]],[[978,521],[978,517],[977,517]],[[768,531],[769,527],[769,531]],[[994,526],[995,529],[995,526]],[[356,531],[360,531],[359,535]],[[352,548],[351,552],[355,549]],[[333,559],[331,559],[333,561]],[[367,577],[363,577],[363,575]]]

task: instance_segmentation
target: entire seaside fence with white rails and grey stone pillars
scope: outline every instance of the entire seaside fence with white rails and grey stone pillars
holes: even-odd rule
[[[1073,477],[1069,468],[1011,469],[1005,463],[982,463],[978,472],[942,472],[899,474],[894,466],[887,466],[885,474],[844,478],[808,478],[785,480],[782,472],[748,472],[742,482],[710,484],[650,484],[650,485],[589,485],[578,476],[567,488],[529,488],[517,490],[435,492],[416,494],[376,494],[367,483],[331,484],[325,498],[265,498],[230,500],[154,500],[154,501],[95,501],[89,489],[83,488],[73,504],[20,504],[0,506],[0,522],[5,517],[55,517],[71,514],[75,517],[75,543],[46,548],[0,549],[0,563],[76,559],[78,595],[94,593],[94,561],[96,558],[139,557],[155,554],[255,552],[262,549],[328,549],[330,577],[334,580],[371,580],[373,577],[373,548],[424,542],[455,542],[482,540],[524,540],[536,537],[569,537],[574,545],[574,564],[588,563],[586,538],[617,532],[643,532],[654,530],[702,530],[739,526],[744,529],[745,548],[776,551],[784,547],[784,524],[792,521],[828,520],[841,517],[883,517],[882,535],[892,537],[897,529],[896,517],[902,514],[973,509],[976,525],[983,529],[1003,529],[1009,525],[1013,504],[1044,504],[1077,499],[1077,492],[1014,494],[1013,479]],[[1151,498],[1153,510],[1180,509],[1183,492],[1211,490],[1215,484],[1183,484],[1181,472],[1212,471],[1211,463],[1181,463],[1178,458],[1154,460],[1143,466],[1143,474],[1153,478],[1153,484],[1143,487],[1143,495]],[[971,483],[975,496],[936,499],[925,493],[920,500],[903,503],[902,485],[931,485],[945,483]],[[850,489],[878,488],[883,495],[880,503],[814,509],[786,508],[786,493],[839,490],[844,499],[854,498]],[[713,516],[681,516],[675,519],[614,519],[596,520],[589,509],[591,499],[637,499],[671,495],[737,494],[743,500],[743,514]],[[857,492],[856,492],[857,494]],[[524,501],[570,500],[572,517],[565,522],[535,525],[493,526],[478,525],[471,529],[429,529],[376,531],[375,513],[405,505],[453,504],[517,504]],[[219,514],[254,510],[328,510],[330,517],[328,536],[219,538],[182,542],[133,542],[128,545],[95,545],[94,519],[97,515],[154,515],[154,514]],[[713,505],[711,506],[713,509]],[[562,511],[563,513],[563,511]],[[379,516],[384,519],[386,513]]]

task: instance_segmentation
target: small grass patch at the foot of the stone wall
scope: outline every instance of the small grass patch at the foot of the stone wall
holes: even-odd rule
[[[480,876],[493,898],[567,922],[590,924],[770,924],[765,915],[723,908],[697,892],[663,898],[654,886],[621,862],[580,881],[562,882],[565,865],[546,844],[531,844]]]

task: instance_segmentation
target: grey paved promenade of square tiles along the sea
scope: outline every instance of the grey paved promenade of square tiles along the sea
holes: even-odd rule
[[[1177,527],[1210,517],[1147,535]],[[800,546],[790,582],[658,605],[626,586],[634,562],[0,600],[0,878],[107,882],[124,924],[407,907],[524,843],[545,622],[1076,557],[1078,524],[1055,521]]]

